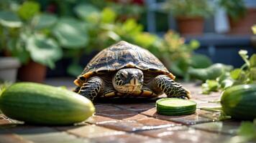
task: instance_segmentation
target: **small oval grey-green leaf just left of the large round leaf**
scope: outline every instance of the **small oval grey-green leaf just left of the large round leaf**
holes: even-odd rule
[[[53,14],[40,14],[34,17],[32,23],[35,25],[35,29],[46,29],[53,26],[57,20],[57,16]]]

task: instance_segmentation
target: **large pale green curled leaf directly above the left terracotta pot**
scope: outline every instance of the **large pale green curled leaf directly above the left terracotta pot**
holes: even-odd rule
[[[54,68],[55,61],[63,56],[63,51],[53,39],[42,35],[32,35],[27,39],[27,51],[33,61]]]

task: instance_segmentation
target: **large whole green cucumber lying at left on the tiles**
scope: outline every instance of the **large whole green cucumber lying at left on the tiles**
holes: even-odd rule
[[[83,122],[95,112],[86,97],[60,87],[29,82],[6,89],[0,96],[0,109],[12,119],[50,125]]]

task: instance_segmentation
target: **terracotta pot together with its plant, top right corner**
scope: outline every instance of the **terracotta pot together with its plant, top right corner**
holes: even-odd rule
[[[256,23],[255,7],[247,7],[244,0],[220,0],[219,5],[227,11],[230,34],[252,34],[250,27]]]

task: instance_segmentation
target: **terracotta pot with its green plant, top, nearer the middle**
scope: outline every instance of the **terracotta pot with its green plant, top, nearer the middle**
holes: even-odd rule
[[[213,13],[206,0],[167,0],[163,9],[175,17],[180,34],[202,34],[204,18]]]

